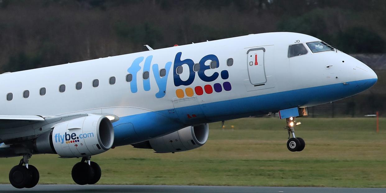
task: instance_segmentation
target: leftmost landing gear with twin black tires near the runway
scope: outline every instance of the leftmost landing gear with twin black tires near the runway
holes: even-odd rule
[[[19,165],[13,167],[9,172],[9,182],[15,188],[33,188],[39,182],[39,171],[35,166],[28,164],[30,158],[30,154],[25,154]]]

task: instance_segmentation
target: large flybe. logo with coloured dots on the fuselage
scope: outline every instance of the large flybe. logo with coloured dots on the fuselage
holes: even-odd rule
[[[132,80],[130,81],[130,91],[132,93],[136,93],[138,91],[138,87],[137,87],[137,76],[138,75],[137,74],[141,70],[140,64],[142,62],[144,62],[143,74],[142,74],[143,89],[145,91],[149,91],[151,89],[149,72],[150,72],[150,69],[152,69],[154,79],[156,80],[157,87],[159,89],[159,91],[156,93],[156,98],[163,98],[166,94],[166,85],[167,85],[169,72],[171,70],[171,66],[172,66],[173,62],[172,61],[166,62],[165,68],[164,68],[164,73],[162,74],[162,73],[159,73],[160,69],[159,69],[158,64],[152,64],[152,59],[153,59],[152,55],[147,56],[146,59],[143,56],[138,57],[138,58],[134,59],[131,66],[127,69],[127,72],[129,74],[132,74]],[[216,62],[216,68],[218,68],[219,60],[218,60],[217,56],[215,56],[213,54],[209,54],[209,55],[201,58],[200,62],[198,63],[200,66],[199,70],[194,71],[193,66],[195,65],[195,62],[192,59],[188,59],[188,58],[183,59],[182,58],[182,52],[178,52],[174,58],[174,64],[173,64],[174,86],[176,86],[176,87],[189,86],[193,83],[196,76],[198,76],[198,78],[200,78],[200,80],[205,81],[205,82],[215,81],[215,80],[217,80],[217,78],[219,76],[221,76],[221,78],[223,80],[226,80],[229,78],[229,73],[227,70],[221,71],[220,74],[218,72],[214,72],[210,76],[207,75],[208,73],[205,74],[205,71],[210,69],[209,65],[205,65],[205,63],[207,61],[215,61]],[[180,77],[180,74],[177,73],[177,68],[179,66],[183,66],[184,64],[187,64],[188,68],[189,68],[189,77],[187,80],[182,80]],[[141,79],[139,79],[139,80],[141,80]],[[203,87],[196,86],[194,88],[194,91],[193,91],[193,88],[191,88],[191,87],[186,88],[185,92],[182,89],[178,89],[178,90],[176,90],[176,95],[179,98],[183,98],[185,96],[185,93],[189,97],[193,96],[194,93],[196,93],[197,95],[202,95],[204,93],[204,90],[205,90],[205,93],[211,94],[211,93],[213,93],[213,88],[216,92],[221,92],[222,90],[230,91],[232,89],[230,83],[225,81],[222,83],[215,83],[213,85],[213,87],[212,87],[212,85],[209,85],[209,84],[207,84]]]

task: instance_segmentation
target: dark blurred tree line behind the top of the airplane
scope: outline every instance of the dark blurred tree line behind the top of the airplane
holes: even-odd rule
[[[262,32],[384,52],[385,0],[0,0],[0,72]]]

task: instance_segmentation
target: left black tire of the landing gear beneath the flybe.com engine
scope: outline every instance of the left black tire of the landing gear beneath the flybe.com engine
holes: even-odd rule
[[[87,163],[78,162],[74,165],[71,176],[78,185],[86,185],[94,176],[94,171]]]

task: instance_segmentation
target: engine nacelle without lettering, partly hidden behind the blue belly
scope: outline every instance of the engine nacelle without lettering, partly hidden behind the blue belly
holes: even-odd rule
[[[209,125],[202,124],[180,129],[162,137],[133,144],[135,148],[154,149],[156,153],[188,151],[203,146],[208,141]]]

